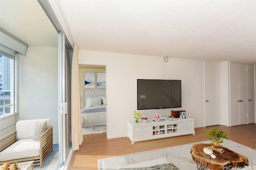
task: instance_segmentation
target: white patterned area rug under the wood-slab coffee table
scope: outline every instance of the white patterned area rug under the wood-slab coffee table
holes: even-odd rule
[[[200,143],[210,143],[210,141],[203,141]],[[190,143],[190,144],[180,145],[176,147],[168,147],[163,149],[138,152],[134,154],[126,154],[123,156],[115,156],[110,158],[99,159],[98,169],[114,170],[120,166],[130,165],[130,164],[135,164],[139,162],[144,162],[148,160],[154,160],[154,159],[165,157],[172,164],[180,168],[180,170],[197,170],[196,162],[192,160],[192,156],[190,154],[190,149],[193,144],[194,143]],[[240,145],[230,140],[224,140],[224,143],[222,143],[222,145],[224,147],[227,147],[230,150],[233,150],[234,152],[247,156],[249,161],[249,166],[247,170],[252,170],[256,168],[256,150],[246,147],[244,145]]]

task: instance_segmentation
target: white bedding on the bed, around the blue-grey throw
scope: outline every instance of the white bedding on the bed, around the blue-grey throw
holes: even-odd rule
[[[102,109],[106,108],[106,105],[91,106],[81,109],[81,111],[86,109]],[[93,125],[106,125],[106,111],[94,112],[94,113],[83,113],[82,117],[82,127],[88,127]]]

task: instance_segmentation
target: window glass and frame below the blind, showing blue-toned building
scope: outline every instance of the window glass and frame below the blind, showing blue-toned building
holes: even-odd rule
[[[14,113],[14,99],[16,81],[14,80],[14,73],[16,72],[16,66],[14,65],[14,59],[10,59],[3,55],[0,55],[0,116],[4,116],[8,113]]]

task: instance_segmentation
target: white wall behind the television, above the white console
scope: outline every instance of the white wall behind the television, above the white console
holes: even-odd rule
[[[169,58],[164,63],[163,57],[80,50],[79,64],[106,65],[108,139],[127,135],[126,121],[134,119],[137,108],[138,78],[182,80],[182,109],[196,119],[195,127],[204,126],[203,61]],[[171,110],[142,110],[142,116],[167,117]]]

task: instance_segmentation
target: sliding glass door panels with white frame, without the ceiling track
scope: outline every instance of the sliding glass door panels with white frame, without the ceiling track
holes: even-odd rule
[[[71,61],[72,51],[65,45],[64,33],[59,33],[58,46],[58,107],[59,107],[59,163],[66,162],[71,149]]]

